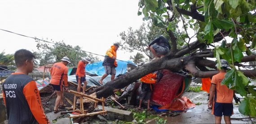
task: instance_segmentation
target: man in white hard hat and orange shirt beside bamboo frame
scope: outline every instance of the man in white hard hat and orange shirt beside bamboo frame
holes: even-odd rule
[[[55,101],[54,106],[54,113],[58,112],[58,106],[60,107],[66,107],[66,105],[63,103],[64,98],[64,91],[63,91],[63,81],[64,81],[64,89],[65,91],[68,90],[67,88],[67,72],[68,69],[66,67],[67,64],[70,63],[70,60],[68,57],[63,57],[61,62],[53,64],[53,67],[50,69],[51,73],[51,85],[53,86],[53,89],[56,90],[57,98]]]

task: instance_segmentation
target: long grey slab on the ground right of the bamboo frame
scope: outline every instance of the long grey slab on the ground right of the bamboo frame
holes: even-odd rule
[[[98,105],[99,109],[102,109],[102,106]],[[131,111],[124,111],[120,109],[115,109],[111,107],[104,107],[104,110],[107,111],[108,113],[114,113],[115,116],[124,116],[125,121],[132,121],[132,112]]]

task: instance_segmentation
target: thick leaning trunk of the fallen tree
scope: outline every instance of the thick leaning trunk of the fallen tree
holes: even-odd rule
[[[251,59],[248,59],[250,57]],[[255,56],[247,56],[247,59],[255,60]],[[111,94],[113,94],[113,90],[124,88],[125,86],[128,86],[129,84],[131,84],[132,82],[135,82],[141,77],[161,69],[169,69],[173,72],[179,72],[183,68],[185,68],[187,71],[193,74],[194,77],[212,77],[213,75],[218,73],[218,71],[201,71],[198,69],[196,65],[198,67],[207,66],[210,68],[216,68],[214,61],[203,59],[200,57],[186,56],[186,57],[180,57],[180,58],[168,60],[168,56],[166,56],[159,60],[151,61],[142,66],[139,66],[133,69],[132,71],[115,78],[115,80],[107,82],[104,86],[101,86],[92,90],[90,93],[97,92],[98,98],[101,98],[101,97],[106,98]],[[241,71],[247,77],[256,76],[256,71],[254,70],[241,70]]]

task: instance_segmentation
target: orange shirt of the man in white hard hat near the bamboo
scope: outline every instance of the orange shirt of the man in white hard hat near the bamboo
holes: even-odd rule
[[[67,85],[67,72],[68,69],[65,64],[58,62],[53,64],[53,67],[50,70],[51,73],[51,81],[50,83],[53,85]]]

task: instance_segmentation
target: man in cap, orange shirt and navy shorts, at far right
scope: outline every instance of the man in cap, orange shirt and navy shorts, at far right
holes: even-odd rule
[[[218,66],[216,64],[216,66]],[[212,108],[212,114],[215,115],[215,124],[221,124],[222,115],[226,124],[231,124],[230,116],[233,113],[233,96],[234,90],[230,90],[227,86],[221,85],[221,81],[225,78],[226,70],[229,64],[226,60],[221,60],[220,73],[212,77],[212,86],[208,108]]]

